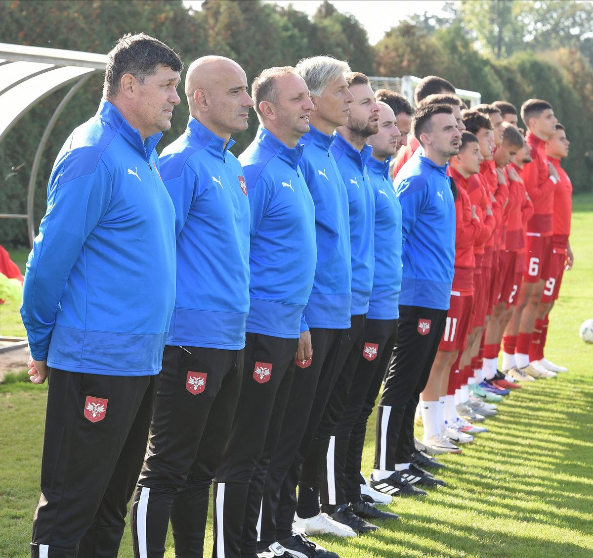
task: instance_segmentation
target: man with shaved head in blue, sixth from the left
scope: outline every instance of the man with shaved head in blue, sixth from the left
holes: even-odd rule
[[[342,417],[331,435],[326,459],[326,474],[320,487],[321,509],[333,514],[348,506],[362,519],[398,519],[363,501],[361,496],[361,460],[366,421],[372,407],[366,401],[377,398],[391,359],[397,337],[398,299],[401,289],[401,207],[389,179],[389,165],[398,147],[400,131],[396,115],[385,104],[380,106],[379,132],[368,138],[372,156],[366,162],[375,202],[375,272],[371,298],[366,313],[364,346],[358,355],[356,372]],[[356,429],[354,427],[356,426]],[[387,498],[390,496],[377,494]],[[358,522],[357,522],[358,523]]]

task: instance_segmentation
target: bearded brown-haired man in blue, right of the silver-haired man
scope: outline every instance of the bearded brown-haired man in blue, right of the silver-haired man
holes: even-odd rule
[[[375,102],[375,94],[366,75],[349,72],[346,74],[346,81],[354,101],[350,104],[350,115],[346,125],[337,128],[336,139],[331,144],[331,152],[336,158],[337,167],[348,193],[352,262],[350,328],[343,332],[336,373],[323,393],[323,400],[320,400],[318,407],[315,408],[317,413],[314,417],[315,422],[310,419],[314,430],[313,436],[310,437],[311,447],[304,452],[307,459],[303,464],[299,480],[297,522],[298,518],[310,518],[315,510],[317,510],[316,513],[319,510],[319,486],[326,469],[331,433],[342,416],[356,364],[362,351],[362,334],[375,268],[375,201],[366,170],[366,162],[372,150],[369,145],[366,145],[366,139],[377,134],[379,130],[379,105]],[[330,517],[355,531],[366,532],[376,529],[374,525],[354,515],[347,506],[334,509]]]

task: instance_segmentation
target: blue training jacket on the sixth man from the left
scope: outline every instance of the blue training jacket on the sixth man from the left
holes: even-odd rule
[[[366,167],[375,193],[375,274],[366,317],[390,320],[400,317],[401,205],[389,179],[389,163],[369,158]]]

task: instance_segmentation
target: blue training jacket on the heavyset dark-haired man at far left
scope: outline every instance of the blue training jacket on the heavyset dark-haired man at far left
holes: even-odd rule
[[[66,139],[29,255],[21,315],[36,360],[68,372],[161,370],[175,301],[175,210],[142,142],[105,99]]]

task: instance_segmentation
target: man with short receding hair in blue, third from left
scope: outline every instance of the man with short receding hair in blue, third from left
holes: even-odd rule
[[[293,404],[295,358],[311,359],[303,310],[317,261],[315,206],[299,166],[299,140],[309,131],[313,103],[290,66],[264,70],[251,94],[260,127],[239,157],[251,206],[250,307],[241,396],[214,482],[219,558],[257,557],[264,478],[285,408]],[[291,556],[273,543],[268,553]]]

